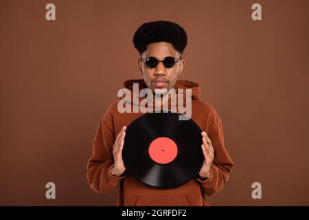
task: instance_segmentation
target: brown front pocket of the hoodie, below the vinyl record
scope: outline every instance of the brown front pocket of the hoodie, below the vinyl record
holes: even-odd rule
[[[139,196],[135,206],[190,206],[185,195]]]

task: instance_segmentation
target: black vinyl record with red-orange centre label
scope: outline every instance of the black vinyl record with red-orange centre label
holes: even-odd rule
[[[122,158],[128,173],[155,188],[175,188],[194,178],[204,162],[199,126],[173,111],[146,113],[126,129]]]

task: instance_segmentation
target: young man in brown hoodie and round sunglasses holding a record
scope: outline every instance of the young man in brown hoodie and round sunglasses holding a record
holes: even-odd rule
[[[222,122],[214,107],[200,100],[198,83],[177,80],[185,65],[182,54],[187,34],[176,23],[154,21],[137,29],[133,43],[140,55],[137,62],[144,79],[124,82],[123,87],[132,94],[126,104],[133,106],[133,98],[144,88],[154,93],[158,89],[175,89],[176,96],[179,89],[190,89],[191,118],[203,131],[201,148],[205,162],[194,179],[177,188],[152,188],[133,179],[124,167],[122,149],[126,126],[143,113],[119,112],[117,100],[106,110],[95,134],[93,156],[88,162],[89,185],[100,193],[119,187],[117,206],[208,206],[207,196],[222,190],[233,162],[225,149]],[[139,91],[134,91],[133,83],[138,83]],[[139,97],[139,103],[143,99]]]

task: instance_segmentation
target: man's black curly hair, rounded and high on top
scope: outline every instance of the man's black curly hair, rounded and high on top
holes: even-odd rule
[[[133,36],[133,43],[139,54],[147,50],[147,45],[156,42],[172,43],[181,54],[187,46],[187,33],[178,24],[171,21],[151,21],[143,23]]]

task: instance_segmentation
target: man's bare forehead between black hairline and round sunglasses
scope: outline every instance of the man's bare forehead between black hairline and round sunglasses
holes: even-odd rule
[[[145,58],[153,56],[158,59],[163,59],[166,56],[172,56],[176,58],[179,56],[179,52],[174,49],[172,43],[156,42],[147,45],[147,50],[144,52],[143,56]]]

